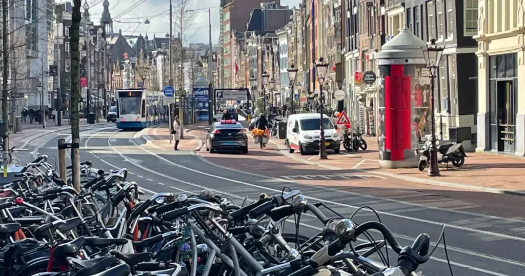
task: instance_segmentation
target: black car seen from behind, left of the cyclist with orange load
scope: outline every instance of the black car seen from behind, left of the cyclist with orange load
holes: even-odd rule
[[[248,136],[237,120],[221,120],[206,130],[206,151],[240,150],[248,153]]]

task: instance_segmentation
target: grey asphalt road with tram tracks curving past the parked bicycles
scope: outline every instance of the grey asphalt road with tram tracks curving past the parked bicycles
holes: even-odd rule
[[[57,140],[67,139],[67,133],[63,131],[59,135],[50,133],[40,137],[29,143],[26,148],[30,151],[20,153],[19,158],[25,162],[31,158],[30,154],[57,156]],[[454,275],[525,275],[525,214],[493,216],[484,212],[429,207],[413,200],[404,201],[403,197],[370,196],[339,187],[256,177],[226,169],[227,163],[224,166],[212,165],[192,151],[171,152],[146,147],[141,138],[135,137],[134,131],[118,131],[114,127],[83,131],[81,160],[93,160],[95,167],[102,169],[128,168],[129,180],[154,192],[211,189],[240,203],[246,197],[257,198],[263,192],[275,195],[288,186],[299,189],[310,202],[323,202],[344,217],[350,217],[359,206],[370,206],[403,246],[411,244],[423,232],[428,233],[433,242],[437,241],[445,224],[447,252]],[[246,164],[247,170],[250,166],[254,165]],[[518,202],[525,206],[525,200]],[[486,203],[490,206],[490,202]],[[353,217],[358,223],[376,219],[366,210]],[[321,223],[309,215],[302,216],[300,223],[300,234],[306,236],[312,236],[322,228]],[[380,238],[377,233],[372,236]],[[396,259],[397,255],[391,251],[391,264],[395,264]],[[420,269],[427,276],[450,275],[443,242]]]

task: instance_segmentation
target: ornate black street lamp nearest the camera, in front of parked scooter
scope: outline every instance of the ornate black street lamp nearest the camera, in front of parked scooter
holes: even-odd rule
[[[431,129],[432,129],[432,144],[430,145],[430,167],[428,168],[428,176],[440,176],[439,168],[437,166],[437,148],[436,148],[436,117],[434,109],[434,79],[436,78],[437,70],[439,68],[439,62],[443,54],[443,47],[436,45],[436,39],[430,40],[430,45],[422,47],[423,55],[425,57],[425,63],[428,71],[430,72],[430,103],[432,109],[430,110]]]

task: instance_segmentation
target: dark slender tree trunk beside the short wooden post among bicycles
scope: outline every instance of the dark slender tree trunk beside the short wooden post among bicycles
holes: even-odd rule
[[[73,0],[73,13],[71,23],[71,165],[73,187],[80,191],[80,126],[78,105],[80,98],[79,63],[80,52],[78,42],[80,36],[80,6],[81,0]]]

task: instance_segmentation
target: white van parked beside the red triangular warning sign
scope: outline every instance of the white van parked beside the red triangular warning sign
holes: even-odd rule
[[[288,139],[288,151],[292,154],[299,150],[301,155],[309,152],[319,151],[319,140],[321,139],[321,114],[306,113],[288,116],[286,126],[286,138]],[[332,124],[330,117],[323,115],[324,139],[327,150],[333,150],[339,154],[341,149],[341,136],[337,127]]]

